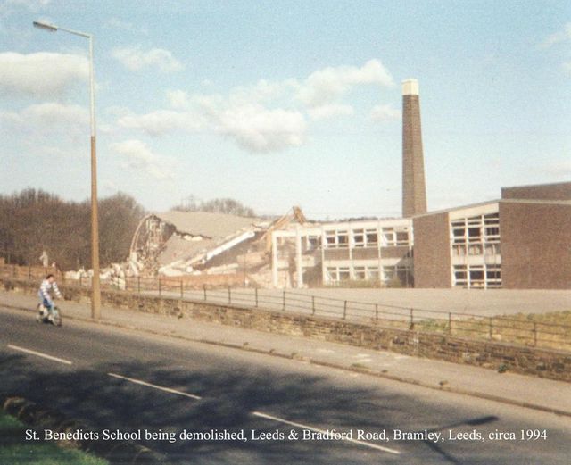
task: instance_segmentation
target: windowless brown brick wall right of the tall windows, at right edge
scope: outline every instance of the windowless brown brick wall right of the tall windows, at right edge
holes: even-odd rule
[[[571,289],[571,204],[500,203],[506,289]]]

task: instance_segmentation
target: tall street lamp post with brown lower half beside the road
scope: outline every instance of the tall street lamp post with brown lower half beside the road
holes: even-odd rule
[[[89,39],[89,88],[91,91],[91,265],[93,278],[91,284],[91,317],[101,317],[101,289],[99,286],[99,220],[97,214],[97,156],[95,152],[95,79],[93,67],[93,35],[78,30],[64,29],[46,22],[34,21],[34,27],[49,32],[62,30]]]

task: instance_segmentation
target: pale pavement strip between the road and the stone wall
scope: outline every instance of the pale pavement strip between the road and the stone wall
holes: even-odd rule
[[[0,307],[29,311],[30,319],[35,317],[36,304],[35,295],[0,292]],[[103,307],[101,320],[95,321],[91,319],[88,303],[60,301],[58,306],[64,325],[66,320],[111,325],[265,353],[571,417],[571,385],[563,381],[126,309]]]

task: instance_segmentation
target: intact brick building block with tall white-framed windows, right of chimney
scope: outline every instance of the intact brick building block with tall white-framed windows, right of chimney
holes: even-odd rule
[[[417,287],[571,289],[571,183],[413,219]]]

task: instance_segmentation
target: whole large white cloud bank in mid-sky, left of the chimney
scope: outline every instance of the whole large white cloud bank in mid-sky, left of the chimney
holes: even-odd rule
[[[393,78],[378,60],[363,66],[342,66],[315,71],[304,81],[261,79],[252,86],[234,87],[227,95],[189,95],[166,91],[173,110],[120,115],[118,125],[140,129],[151,136],[174,130],[208,130],[233,139],[253,153],[279,152],[307,140],[308,116],[323,120],[352,115],[350,104],[338,102],[353,87],[393,86]],[[385,105],[377,117],[394,119],[400,112]]]

